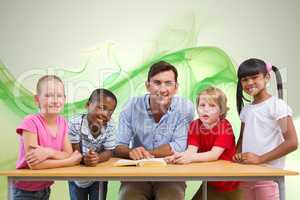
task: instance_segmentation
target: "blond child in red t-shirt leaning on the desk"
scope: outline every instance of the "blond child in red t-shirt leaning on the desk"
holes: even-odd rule
[[[197,97],[199,119],[191,122],[188,131],[188,149],[166,157],[167,162],[187,164],[214,160],[231,161],[235,154],[234,134],[230,123],[225,119],[227,99],[218,88],[209,87]],[[199,153],[198,153],[199,152]],[[209,200],[240,200],[239,182],[208,182]],[[202,199],[202,187],[193,197]]]

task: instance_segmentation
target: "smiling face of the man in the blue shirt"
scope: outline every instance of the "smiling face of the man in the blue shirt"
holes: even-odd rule
[[[173,71],[162,71],[146,82],[146,88],[150,93],[150,100],[155,104],[166,106],[176,94],[178,84]]]

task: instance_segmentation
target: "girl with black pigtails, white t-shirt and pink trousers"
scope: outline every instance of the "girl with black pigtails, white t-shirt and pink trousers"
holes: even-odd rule
[[[260,59],[244,61],[238,69],[237,108],[242,121],[236,162],[244,164],[267,163],[284,167],[284,156],[297,149],[297,136],[290,107],[268,93],[266,85],[270,72],[275,72],[279,97],[282,81],[278,69]],[[243,91],[253,101],[243,107]],[[273,181],[245,182],[241,184],[246,200],[279,199],[278,185]]]

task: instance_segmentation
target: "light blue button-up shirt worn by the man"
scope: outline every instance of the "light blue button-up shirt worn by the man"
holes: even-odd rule
[[[173,97],[169,110],[156,123],[150,110],[149,97],[149,94],[134,97],[125,105],[119,117],[116,145],[131,148],[143,146],[153,150],[169,144],[174,151],[184,151],[188,125],[194,117],[193,104],[182,97]]]

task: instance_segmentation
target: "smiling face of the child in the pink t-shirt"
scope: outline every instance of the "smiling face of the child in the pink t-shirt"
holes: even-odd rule
[[[66,100],[63,83],[56,79],[45,79],[38,87],[35,101],[45,115],[58,114]]]

